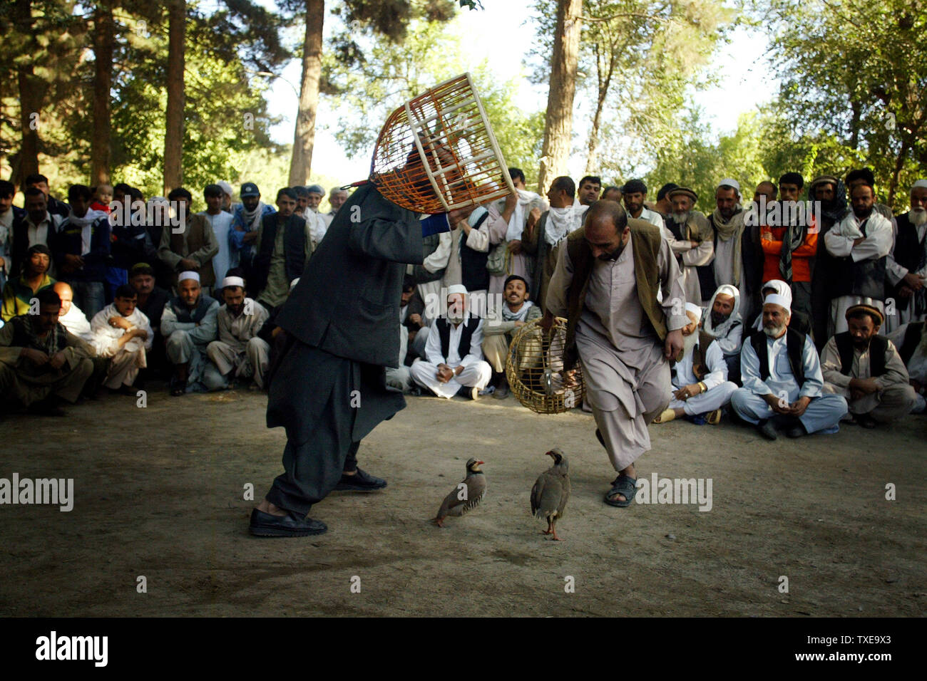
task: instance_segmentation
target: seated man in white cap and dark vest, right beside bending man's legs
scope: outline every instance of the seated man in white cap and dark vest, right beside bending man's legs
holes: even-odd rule
[[[706,422],[717,425],[721,410],[730,403],[737,385],[728,380],[728,365],[720,344],[711,335],[699,331],[702,309],[694,303],[686,303],[686,316],[689,323],[682,327],[682,357],[673,365],[669,406],[654,423],[685,416],[696,425]]]

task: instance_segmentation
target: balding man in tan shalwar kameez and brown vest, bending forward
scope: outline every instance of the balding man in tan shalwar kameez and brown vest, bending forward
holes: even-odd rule
[[[636,489],[634,461],[650,449],[647,425],[667,408],[668,358],[689,322],[679,265],[658,228],[629,221],[614,201],[594,204],[562,246],[541,323],[568,320],[565,369],[580,362],[596,435],[619,472],[605,503],[624,507]]]

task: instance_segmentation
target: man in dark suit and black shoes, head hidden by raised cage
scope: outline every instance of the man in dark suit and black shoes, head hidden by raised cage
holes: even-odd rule
[[[385,368],[398,363],[406,264],[422,259],[417,216],[373,184],[338,211],[276,317],[287,340],[267,425],[286,428],[285,473],[252,511],[252,534],[322,534],[325,524],[307,516],[313,504],[333,489],[386,486],[357,467],[357,451],[377,423],[405,407],[387,390]]]

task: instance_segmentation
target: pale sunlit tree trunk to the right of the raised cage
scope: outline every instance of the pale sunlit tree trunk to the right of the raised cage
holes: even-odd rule
[[[538,172],[541,195],[547,192],[553,178],[565,174],[570,156],[581,19],[582,0],[557,0],[557,33],[553,37],[551,81]]]

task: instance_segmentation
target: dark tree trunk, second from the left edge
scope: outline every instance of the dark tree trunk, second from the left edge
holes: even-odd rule
[[[109,183],[110,96],[113,82],[113,2],[94,12],[94,131],[90,139],[90,183]]]

